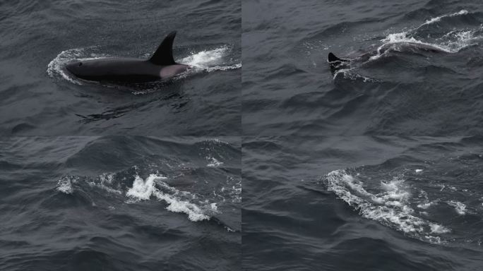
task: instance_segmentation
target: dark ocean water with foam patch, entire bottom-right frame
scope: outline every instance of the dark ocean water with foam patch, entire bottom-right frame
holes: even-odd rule
[[[244,270],[482,270],[482,145],[247,138]]]

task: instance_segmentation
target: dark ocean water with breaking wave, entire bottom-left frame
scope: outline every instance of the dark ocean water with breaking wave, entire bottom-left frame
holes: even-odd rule
[[[1,270],[240,270],[238,139],[0,144]]]

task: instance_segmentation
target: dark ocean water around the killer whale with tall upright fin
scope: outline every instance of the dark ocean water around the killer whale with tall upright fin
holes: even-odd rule
[[[3,135],[239,135],[238,1],[0,1]],[[179,80],[82,83],[73,59],[147,58],[172,30]]]

